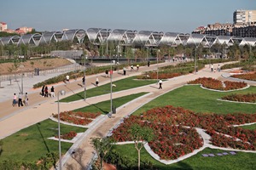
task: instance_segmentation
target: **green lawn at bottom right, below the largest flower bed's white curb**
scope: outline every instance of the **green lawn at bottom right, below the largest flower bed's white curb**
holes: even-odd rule
[[[137,150],[134,148],[134,144],[125,144],[125,145],[114,145],[113,151],[117,151],[121,156],[129,157],[128,159],[134,160],[135,165],[137,166]],[[222,152],[228,152],[227,150],[213,150],[206,148],[201,152],[197,153],[195,156],[191,156],[188,159],[183,161],[178,161],[171,165],[165,165],[160,163],[160,161],[154,160],[151,157],[147,150],[141,150],[141,166],[143,162],[152,162],[154,169],[168,170],[168,169],[211,169],[211,170],[238,170],[238,169],[255,169],[256,168],[256,159],[255,153],[245,153],[245,152],[236,152],[236,155],[228,156],[214,156],[214,157],[204,157],[201,154],[217,154]]]

